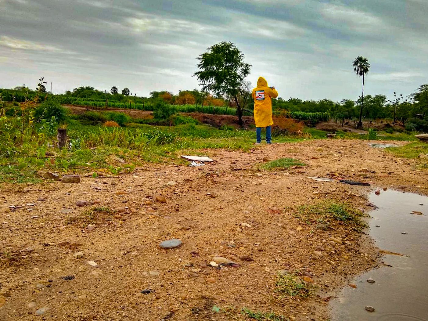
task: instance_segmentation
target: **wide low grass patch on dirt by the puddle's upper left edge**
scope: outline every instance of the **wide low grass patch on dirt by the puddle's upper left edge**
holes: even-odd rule
[[[361,220],[365,216],[361,211],[354,209],[351,205],[333,200],[323,200],[312,205],[303,205],[299,208],[297,217],[306,220],[308,224],[323,223],[330,225],[339,221],[349,225],[357,231],[361,231],[367,224]]]

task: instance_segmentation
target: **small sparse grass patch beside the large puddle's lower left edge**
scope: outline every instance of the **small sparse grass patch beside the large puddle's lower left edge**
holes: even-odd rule
[[[276,291],[290,297],[311,297],[315,290],[312,283],[304,282],[295,273],[278,274],[276,280]]]

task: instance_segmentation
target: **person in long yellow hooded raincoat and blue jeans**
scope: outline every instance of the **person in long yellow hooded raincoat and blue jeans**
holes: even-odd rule
[[[266,127],[266,143],[271,144],[272,100],[278,97],[275,87],[268,87],[265,78],[259,77],[252,93],[254,99],[254,121],[256,122],[257,144],[262,143],[262,127]]]

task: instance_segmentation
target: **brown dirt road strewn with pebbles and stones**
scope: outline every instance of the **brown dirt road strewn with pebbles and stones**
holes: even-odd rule
[[[243,307],[291,320],[327,320],[322,298],[347,286],[352,274],[380,264],[380,256],[364,233],[341,225],[317,229],[295,217],[298,207],[334,199],[367,210],[372,188],[427,190],[426,173],[412,161],[367,141],[308,140],[262,145],[248,154],[206,153],[217,161],[1,190],[0,320],[242,320],[237,313]],[[257,168],[283,157],[307,166]],[[308,178],[330,172],[372,186]],[[156,202],[156,193],[166,203]],[[100,204],[77,207],[79,200]],[[330,245],[332,236],[344,244]],[[159,247],[171,238],[183,245]],[[314,254],[320,246],[328,253],[321,259]],[[213,267],[214,256],[238,265]],[[312,275],[317,296],[281,298],[275,291],[281,269]],[[237,309],[215,313],[214,305]],[[44,307],[45,314],[36,315]]]

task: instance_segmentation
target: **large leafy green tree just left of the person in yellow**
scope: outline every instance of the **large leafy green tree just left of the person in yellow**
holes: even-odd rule
[[[245,77],[250,74],[251,65],[244,62],[244,54],[232,42],[220,42],[208,48],[198,58],[195,72],[202,90],[214,95],[226,96],[235,101],[238,124],[243,125],[244,105],[240,101],[245,95]]]

